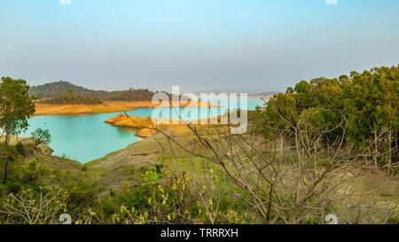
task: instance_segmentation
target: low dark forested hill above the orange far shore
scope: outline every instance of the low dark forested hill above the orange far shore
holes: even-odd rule
[[[155,92],[151,90],[90,90],[71,82],[51,82],[30,87],[29,94],[54,104],[99,103],[103,101],[149,101]]]

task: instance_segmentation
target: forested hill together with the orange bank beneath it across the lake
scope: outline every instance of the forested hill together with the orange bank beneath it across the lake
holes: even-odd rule
[[[156,92],[150,90],[89,90],[64,81],[31,87],[29,94],[36,98],[36,116],[116,113],[136,108],[160,106],[160,104],[153,103],[153,95]],[[170,94],[168,95],[170,96]],[[169,105],[176,104],[166,104],[164,106]],[[189,102],[188,104],[178,104],[176,106],[187,105],[192,104]],[[213,106],[201,101],[196,105]]]

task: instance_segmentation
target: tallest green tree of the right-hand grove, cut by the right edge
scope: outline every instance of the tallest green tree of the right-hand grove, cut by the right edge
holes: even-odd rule
[[[362,151],[371,152],[377,165],[380,153],[397,152],[399,103],[399,68],[374,67],[363,74],[352,73],[352,81],[344,89],[344,113],[350,120],[348,142]]]

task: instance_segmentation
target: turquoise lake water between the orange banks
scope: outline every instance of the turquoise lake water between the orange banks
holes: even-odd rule
[[[238,102],[239,104],[239,102]],[[248,110],[254,110],[263,101],[258,98],[248,98]],[[239,105],[238,105],[239,106]],[[167,113],[176,110],[162,108]],[[223,114],[227,108],[211,108],[208,115]],[[127,112],[131,116],[150,117],[153,108],[138,108]],[[121,113],[99,113],[90,115],[50,115],[37,116],[29,119],[29,128],[21,137],[29,137],[37,128],[49,129],[51,133],[51,149],[53,155],[64,156],[68,159],[87,163],[106,156],[110,152],[121,150],[129,144],[136,143],[141,138],[136,137],[134,129],[113,127],[104,121],[116,117]],[[197,119],[188,115],[187,119]]]

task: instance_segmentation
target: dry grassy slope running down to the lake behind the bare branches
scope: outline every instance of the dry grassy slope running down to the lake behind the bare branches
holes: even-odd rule
[[[179,137],[179,134],[176,134]],[[178,142],[184,147],[192,147],[194,137],[182,136]],[[25,147],[32,149],[34,146],[31,139],[20,140]],[[15,143],[12,140],[12,143]],[[163,152],[160,144],[165,150],[170,151],[169,145],[174,147],[175,152]],[[95,188],[100,194],[106,195],[110,190],[117,190],[122,183],[129,183],[132,186],[139,185],[141,174],[145,169],[155,169],[155,164],[160,163],[160,157],[171,168],[179,168],[184,170],[188,175],[192,175],[194,169],[201,170],[203,166],[210,165],[214,169],[214,174],[219,176],[219,180],[223,181],[226,189],[232,189],[233,186],[223,175],[222,169],[215,164],[208,162],[203,163],[201,159],[194,158],[182,149],[176,147],[165,137],[156,134],[154,137],[146,138],[140,142],[129,145],[127,148],[117,152],[112,152],[106,157],[94,160],[86,165],[87,169],[83,169],[82,164],[74,160],[66,160],[54,157],[49,154],[48,147],[42,145],[41,152],[31,152],[31,156],[39,161],[39,164],[51,170],[49,182],[51,184],[59,184],[60,186],[79,186],[82,183],[89,188]],[[207,151],[205,151],[207,152]],[[351,176],[350,173],[340,174],[341,178]],[[383,185],[378,191],[374,191]],[[370,168],[364,170],[361,176],[352,180],[347,184],[356,193],[368,193],[368,199],[375,201],[379,206],[385,206],[397,203],[399,201],[399,180],[391,179],[385,171]]]

